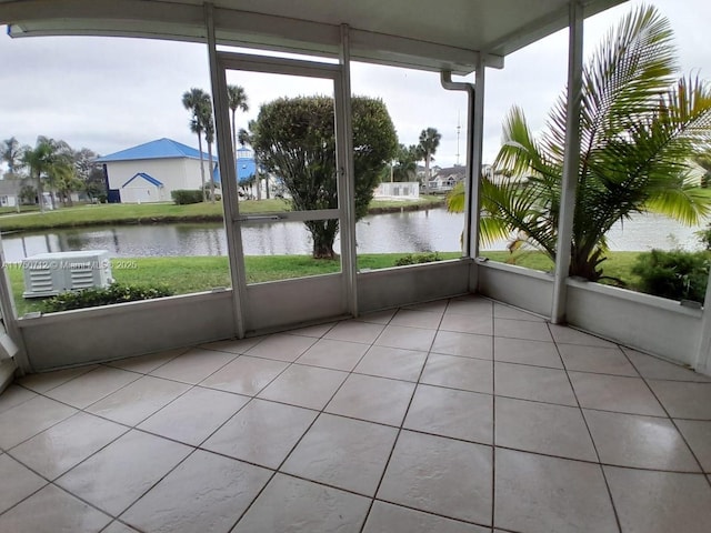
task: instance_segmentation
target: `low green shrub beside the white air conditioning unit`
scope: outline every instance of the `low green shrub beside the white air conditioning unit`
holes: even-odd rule
[[[113,283],[107,288],[67,291],[42,302],[43,313],[70,311],[72,309],[97,308],[113,303],[136,302],[153,298],[172,296],[173,291],[166,285],[128,285]]]

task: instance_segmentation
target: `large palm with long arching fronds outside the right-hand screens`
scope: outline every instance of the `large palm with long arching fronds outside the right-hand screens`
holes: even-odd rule
[[[605,234],[641,212],[697,224],[710,200],[689,182],[689,161],[711,140],[711,92],[698,79],[677,79],[669,21],[640,7],[611,31],[583,70],[581,149],[570,275],[602,276]],[[565,102],[551,110],[533,138],[513,108],[494,168],[503,181],[481,178],[483,242],[514,232],[513,251],[528,244],[555,259],[565,139]],[[528,178],[523,183],[521,178]],[[463,190],[449,209],[463,209]]]

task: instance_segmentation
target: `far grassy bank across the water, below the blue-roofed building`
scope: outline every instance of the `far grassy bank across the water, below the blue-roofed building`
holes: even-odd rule
[[[421,197],[418,200],[373,200],[370,212],[383,213],[403,210],[431,209],[443,205],[443,197]],[[241,213],[288,211],[284,200],[246,200],[240,202]],[[2,214],[2,213],[0,213]],[[8,212],[0,217],[0,231],[37,231],[88,225],[157,224],[174,222],[220,222],[222,203],[101,203],[61,208],[54,211]]]

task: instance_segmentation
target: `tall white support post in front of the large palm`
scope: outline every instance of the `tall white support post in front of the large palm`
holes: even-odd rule
[[[573,215],[575,212],[575,192],[580,167],[580,107],[582,94],[582,43],[583,7],[582,2],[570,2],[568,44],[568,105],[565,120],[565,152],[558,222],[558,249],[555,252],[555,278],[553,280],[553,305],[551,321],[554,324],[565,321],[565,280],[570,270]]]

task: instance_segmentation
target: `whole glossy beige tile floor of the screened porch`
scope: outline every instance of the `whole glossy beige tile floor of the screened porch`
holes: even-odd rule
[[[708,532],[711,379],[469,296],[36,374],[0,532]]]

